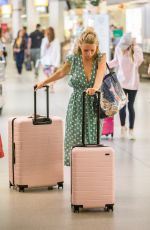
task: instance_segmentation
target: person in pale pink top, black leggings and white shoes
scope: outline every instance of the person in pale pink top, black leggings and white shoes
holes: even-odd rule
[[[128,110],[129,110],[129,139],[134,140],[134,122],[135,110],[134,102],[139,88],[139,73],[138,68],[143,62],[142,49],[136,44],[135,39],[132,38],[131,33],[126,33],[120,39],[119,44],[115,49],[114,59],[110,61],[109,67],[118,67],[118,80],[128,96]],[[127,135],[126,124],[126,106],[120,110],[121,122],[121,137]]]

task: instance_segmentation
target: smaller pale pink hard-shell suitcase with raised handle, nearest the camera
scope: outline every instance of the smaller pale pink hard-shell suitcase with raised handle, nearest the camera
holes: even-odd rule
[[[114,150],[99,144],[100,109],[97,109],[97,144],[85,144],[85,97],[84,92],[82,145],[73,147],[71,152],[71,205],[74,212],[79,212],[80,208],[113,211]]]

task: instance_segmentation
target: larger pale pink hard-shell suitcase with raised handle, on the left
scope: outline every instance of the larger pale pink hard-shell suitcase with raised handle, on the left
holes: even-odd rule
[[[64,146],[63,121],[49,118],[49,87],[47,92],[47,117],[36,114],[34,92],[34,117],[9,119],[9,181],[19,191],[28,187],[58,185],[63,188]]]

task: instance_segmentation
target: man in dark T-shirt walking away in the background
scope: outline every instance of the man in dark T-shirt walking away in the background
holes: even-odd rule
[[[28,55],[31,55],[31,60],[33,61],[35,68],[35,76],[38,76],[38,65],[36,65],[37,60],[40,59],[40,47],[44,34],[41,32],[41,25],[36,25],[36,30],[32,32],[28,38]]]

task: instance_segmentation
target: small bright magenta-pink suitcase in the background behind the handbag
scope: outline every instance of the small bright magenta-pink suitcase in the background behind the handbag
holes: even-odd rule
[[[113,137],[114,135],[114,118],[113,117],[104,118],[102,135],[105,135],[105,136],[111,135]]]

